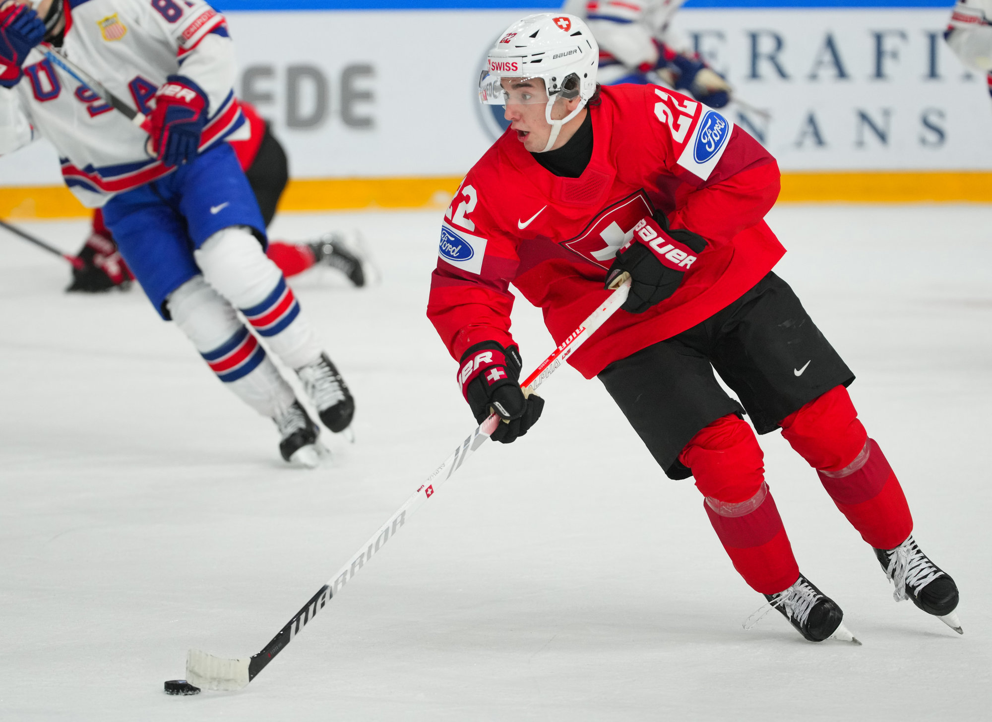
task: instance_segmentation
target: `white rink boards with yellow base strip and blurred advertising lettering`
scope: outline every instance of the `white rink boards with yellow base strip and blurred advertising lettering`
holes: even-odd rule
[[[987,200],[986,80],[944,44],[949,6],[924,3],[824,9],[708,0],[737,7],[690,4],[677,29],[738,97],[769,111],[763,118],[726,109],[779,160],[783,199]],[[284,209],[446,202],[499,130],[475,100],[485,50],[525,12],[451,7],[458,4],[394,0],[361,5],[416,9],[359,11],[319,9],[359,5],[334,0],[228,3],[236,87],[289,151],[296,182]],[[240,9],[277,5],[318,9]],[[0,215],[81,212],[61,188],[24,187],[57,186],[58,169],[44,143],[0,159],[0,185],[10,186]]]

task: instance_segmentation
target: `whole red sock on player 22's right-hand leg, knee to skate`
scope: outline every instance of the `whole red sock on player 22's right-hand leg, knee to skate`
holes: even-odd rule
[[[913,517],[895,472],[868,438],[838,386],[782,421],[782,435],[816,469],[837,508],[864,541],[895,548],[913,532]]]

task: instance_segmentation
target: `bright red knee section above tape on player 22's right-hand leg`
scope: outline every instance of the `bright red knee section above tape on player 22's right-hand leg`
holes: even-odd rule
[[[864,448],[868,432],[851,397],[836,386],[779,422],[782,435],[814,469],[837,471]]]

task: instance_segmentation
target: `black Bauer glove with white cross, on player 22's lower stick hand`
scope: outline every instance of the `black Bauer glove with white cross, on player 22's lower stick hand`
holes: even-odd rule
[[[523,436],[545,408],[540,396],[524,398],[522,368],[517,347],[503,348],[496,341],[476,343],[461,356],[458,383],[475,421],[482,423],[493,412],[504,419],[492,432],[493,441],[510,443]]]

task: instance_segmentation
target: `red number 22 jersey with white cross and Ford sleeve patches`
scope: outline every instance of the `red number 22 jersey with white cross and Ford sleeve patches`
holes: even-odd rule
[[[512,283],[561,343],[611,293],[616,251],[656,208],[709,244],[669,299],[617,311],[568,363],[608,364],[708,318],[785,254],[763,220],[779,194],[775,159],[714,110],[656,85],[600,90],[592,160],[577,179],[538,164],[509,130],[462,181],[441,225],[428,317],[456,360],[480,341],[512,344]]]

